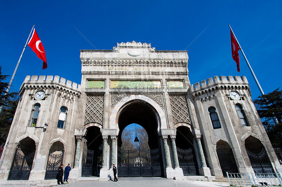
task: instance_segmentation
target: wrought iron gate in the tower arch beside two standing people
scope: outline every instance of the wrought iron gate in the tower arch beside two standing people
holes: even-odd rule
[[[46,165],[45,179],[55,179],[58,168],[63,162],[64,150],[60,154],[53,154],[49,151],[48,161]]]

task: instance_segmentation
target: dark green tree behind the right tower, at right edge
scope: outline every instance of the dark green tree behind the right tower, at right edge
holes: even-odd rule
[[[282,145],[282,90],[258,96],[254,103],[271,143]]]

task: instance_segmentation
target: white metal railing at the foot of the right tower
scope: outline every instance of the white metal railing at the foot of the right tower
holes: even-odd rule
[[[233,186],[282,186],[281,173],[230,173],[226,172]]]

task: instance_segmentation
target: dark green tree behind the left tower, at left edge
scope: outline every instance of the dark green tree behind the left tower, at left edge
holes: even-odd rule
[[[0,66],[0,106],[3,108],[0,113],[0,146],[6,141],[19,102],[19,95],[16,92],[7,93],[9,83],[4,82],[6,78],[8,75],[2,74]]]

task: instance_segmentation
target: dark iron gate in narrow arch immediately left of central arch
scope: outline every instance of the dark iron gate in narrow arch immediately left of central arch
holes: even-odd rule
[[[94,150],[83,152],[81,176],[92,176]]]

